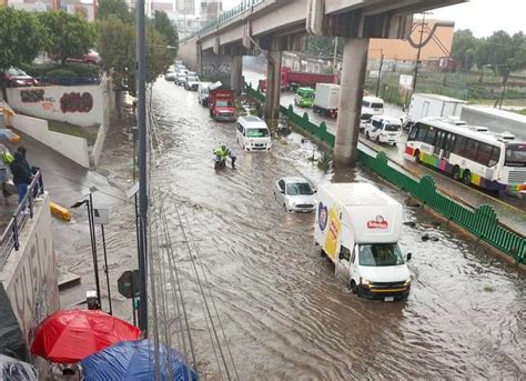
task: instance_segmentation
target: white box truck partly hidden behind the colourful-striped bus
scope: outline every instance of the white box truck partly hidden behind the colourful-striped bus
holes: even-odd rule
[[[461,99],[415,93],[411,98],[406,128],[409,129],[418,120],[427,117],[459,117],[465,104],[467,102]]]

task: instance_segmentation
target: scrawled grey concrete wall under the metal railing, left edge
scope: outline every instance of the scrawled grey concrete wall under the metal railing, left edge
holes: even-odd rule
[[[16,317],[26,345],[48,314],[59,309],[57,264],[49,194],[34,207],[34,214],[20,233],[20,249],[10,253],[0,272],[0,284]],[[6,304],[3,304],[6,307]],[[0,321],[0,327],[4,324]]]

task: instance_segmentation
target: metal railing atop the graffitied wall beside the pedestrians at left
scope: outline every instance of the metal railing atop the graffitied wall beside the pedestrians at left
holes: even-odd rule
[[[0,271],[3,270],[3,265],[9,259],[12,250],[20,249],[20,232],[26,227],[28,220],[33,218],[34,201],[42,193],[42,176],[40,171],[37,171],[28,187],[28,191],[26,192],[22,202],[17,207],[2,237],[0,238]]]

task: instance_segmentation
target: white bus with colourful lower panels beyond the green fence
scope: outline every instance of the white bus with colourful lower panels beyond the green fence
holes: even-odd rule
[[[404,156],[489,191],[526,192],[526,142],[486,128],[426,118],[411,129]]]

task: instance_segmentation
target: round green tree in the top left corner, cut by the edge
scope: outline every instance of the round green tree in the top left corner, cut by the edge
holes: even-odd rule
[[[0,8],[0,71],[31,62],[44,42],[43,28],[34,13]],[[2,94],[7,99],[6,83],[1,82]]]

